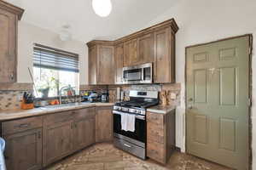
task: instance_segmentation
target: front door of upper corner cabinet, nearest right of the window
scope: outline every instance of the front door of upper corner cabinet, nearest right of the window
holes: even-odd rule
[[[114,83],[113,47],[99,45],[98,47],[98,82],[99,84]]]

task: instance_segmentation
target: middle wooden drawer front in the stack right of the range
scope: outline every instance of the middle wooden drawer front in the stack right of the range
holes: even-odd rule
[[[153,122],[147,123],[147,139],[160,144],[165,144],[165,129],[164,126]]]

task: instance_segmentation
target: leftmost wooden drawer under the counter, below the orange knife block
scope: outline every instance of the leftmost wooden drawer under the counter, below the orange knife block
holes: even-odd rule
[[[15,121],[3,122],[3,134],[19,133],[29,129],[42,127],[42,116],[19,119]]]

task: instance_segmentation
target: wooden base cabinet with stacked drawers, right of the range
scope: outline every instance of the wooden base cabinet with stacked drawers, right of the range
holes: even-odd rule
[[[166,164],[175,150],[175,110],[147,112],[147,156]]]

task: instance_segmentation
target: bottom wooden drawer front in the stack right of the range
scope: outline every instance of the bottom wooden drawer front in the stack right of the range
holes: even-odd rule
[[[160,163],[166,163],[165,159],[165,145],[160,144],[151,140],[147,142],[147,156],[154,161],[159,161]]]

